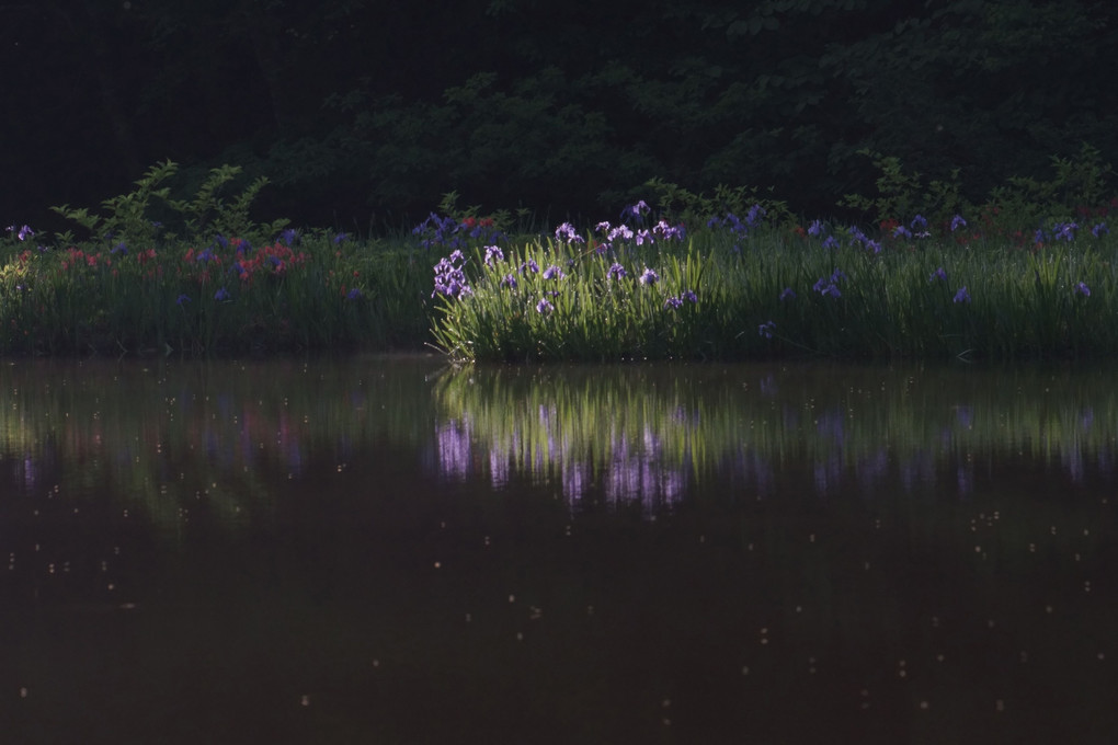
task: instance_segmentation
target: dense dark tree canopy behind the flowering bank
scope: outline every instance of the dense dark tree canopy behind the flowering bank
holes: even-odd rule
[[[0,220],[155,161],[244,165],[260,209],[402,225],[440,194],[612,214],[657,176],[873,190],[860,150],[985,193],[1118,156],[1109,0],[0,1]],[[188,187],[187,187],[188,188]]]

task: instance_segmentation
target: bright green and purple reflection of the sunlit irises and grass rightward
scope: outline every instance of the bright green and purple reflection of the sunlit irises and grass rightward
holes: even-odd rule
[[[1103,375],[920,367],[475,367],[444,376],[444,474],[487,465],[560,481],[568,500],[680,496],[721,475],[750,490],[827,494],[887,477],[966,496],[980,458],[1059,464],[1111,478],[1118,400]],[[642,476],[650,466],[659,477]],[[634,474],[636,471],[636,474]],[[777,483],[775,479],[780,479]],[[712,479],[713,480],[713,479]],[[946,481],[946,485],[944,484]],[[627,489],[610,485],[628,484]],[[719,481],[724,484],[724,481]]]

